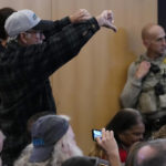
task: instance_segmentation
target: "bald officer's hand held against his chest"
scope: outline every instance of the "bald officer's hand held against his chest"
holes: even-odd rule
[[[135,73],[135,77],[142,80],[149,72],[149,69],[151,69],[151,63],[147,61],[143,61],[138,65],[138,69]]]

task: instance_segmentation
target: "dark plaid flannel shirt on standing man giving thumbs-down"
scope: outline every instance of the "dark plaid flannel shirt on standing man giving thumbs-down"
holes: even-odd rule
[[[4,163],[10,165],[28,144],[28,118],[37,112],[55,111],[49,76],[74,58],[98,29],[94,18],[74,24],[64,18],[54,22],[42,44],[8,44],[0,56],[0,124],[7,135]]]

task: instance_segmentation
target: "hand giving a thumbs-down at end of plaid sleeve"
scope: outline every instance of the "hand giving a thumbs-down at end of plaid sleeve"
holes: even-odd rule
[[[113,12],[111,10],[104,10],[100,15],[96,17],[100,27],[106,27],[112,29],[114,32],[117,31],[116,27],[113,24]]]

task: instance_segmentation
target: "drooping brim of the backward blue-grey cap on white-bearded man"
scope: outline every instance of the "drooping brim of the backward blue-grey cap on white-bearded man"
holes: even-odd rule
[[[29,158],[30,163],[44,162],[50,158],[53,152],[53,146],[48,147],[34,147]]]

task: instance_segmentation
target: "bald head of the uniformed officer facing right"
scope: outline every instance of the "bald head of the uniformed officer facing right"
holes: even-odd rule
[[[166,33],[164,29],[155,23],[146,24],[142,30],[143,43],[147,49],[147,55],[158,58],[166,50]]]

